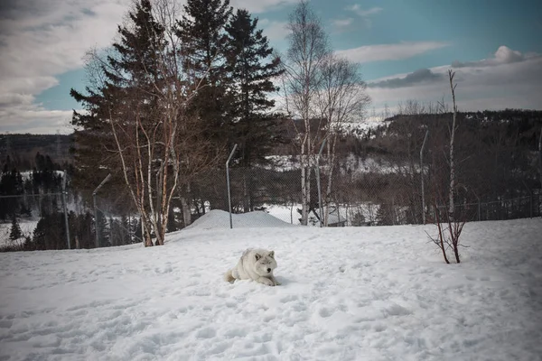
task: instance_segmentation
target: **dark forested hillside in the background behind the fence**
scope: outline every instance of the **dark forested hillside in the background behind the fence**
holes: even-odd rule
[[[430,171],[432,168],[439,166],[435,154],[442,151],[440,144],[447,132],[449,118],[449,114],[396,115],[378,122],[378,125],[366,129],[353,128],[341,134],[331,201],[353,209],[350,226],[422,222],[419,151],[425,132],[429,130],[424,168],[429,193],[434,180],[428,175],[433,173]],[[542,199],[537,144],[542,112],[506,109],[461,113],[459,118],[461,141],[458,143],[458,157],[462,162],[458,178],[466,190],[460,193],[464,200],[469,204],[481,202],[488,205],[482,211],[482,220],[539,216]],[[295,153],[294,138],[287,131],[282,136],[284,143],[276,145],[266,155],[270,159],[274,159],[273,156],[295,159],[298,154]],[[56,162],[54,156],[41,153],[36,153],[32,159],[12,153],[4,155],[1,160],[0,197],[19,196],[1,198],[0,222],[9,225],[9,234],[6,232],[2,236],[20,240],[24,244],[23,249],[66,247],[60,196],[61,170],[67,171],[69,179],[66,192],[73,246],[76,246],[76,236],[79,247],[95,246],[95,216],[90,192],[98,183],[93,183],[92,187],[79,187],[75,181],[79,175],[73,167],[73,155],[66,152],[59,158],[69,160],[64,164]],[[368,160],[371,161],[369,168]],[[299,169],[270,166],[270,162],[250,168],[239,163],[232,166],[235,212],[299,204]],[[253,184],[248,192],[243,192],[243,175],[248,175]],[[100,198],[99,208],[107,209],[107,212],[98,212],[99,246],[126,245],[142,239],[135,208],[126,191],[119,188],[122,189],[122,184],[115,182],[104,186],[103,193],[109,197]],[[211,208],[228,210],[226,191],[223,167],[201,174],[201,178],[192,185],[192,219],[201,217]],[[313,192],[313,199],[317,199]],[[41,197],[31,197],[40,194]],[[110,197],[113,194],[115,197]],[[399,214],[392,211],[392,199],[393,206],[400,209]],[[514,203],[511,199],[517,200]],[[369,204],[376,206],[374,214],[369,212]],[[179,199],[173,199],[174,211],[169,218],[167,232],[184,227],[179,212],[181,207]],[[315,200],[312,207],[317,208]],[[431,205],[426,207],[427,213]],[[299,216],[297,212],[295,216]],[[35,220],[37,227],[33,233],[18,233],[14,219],[17,223]],[[471,220],[478,219],[473,215]],[[13,235],[12,228],[15,229]]]

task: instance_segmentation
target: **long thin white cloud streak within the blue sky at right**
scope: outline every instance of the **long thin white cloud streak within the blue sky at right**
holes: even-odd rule
[[[379,60],[408,59],[449,45],[448,42],[399,42],[395,44],[365,45],[359,48],[337,51],[337,54],[354,62],[368,63]]]

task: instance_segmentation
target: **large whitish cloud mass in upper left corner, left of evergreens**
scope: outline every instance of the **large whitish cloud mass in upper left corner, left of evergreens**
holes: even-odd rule
[[[106,47],[130,0],[8,0],[0,6],[0,131],[54,133],[65,112],[34,104],[59,84],[62,73],[80,69],[92,47]],[[66,118],[68,116],[68,118]],[[46,124],[50,124],[48,128]]]

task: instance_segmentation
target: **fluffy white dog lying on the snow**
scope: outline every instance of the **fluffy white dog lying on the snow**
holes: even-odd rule
[[[276,269],[275,251],[251,249],[241,255],[238,264],[224,274],[224,281],[254,280],[268,286],[278,286],[273,270]]]

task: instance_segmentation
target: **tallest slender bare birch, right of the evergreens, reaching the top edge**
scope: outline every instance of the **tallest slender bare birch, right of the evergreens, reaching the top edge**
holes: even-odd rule
[[[331,50],[320,18],[306,0],[290,14],[288,30],[290,44],[284,62],[286,110],[303,122],[303,126],[294,127],[300,150],[302,224],[306,225],[311,202],[310,170],[317,145],[316,136],[312,138],[311,119],[318,116],[314,101],[322,82],[322,64]],[[318,134],[318,129],[313,133]]]

